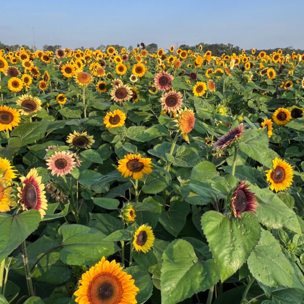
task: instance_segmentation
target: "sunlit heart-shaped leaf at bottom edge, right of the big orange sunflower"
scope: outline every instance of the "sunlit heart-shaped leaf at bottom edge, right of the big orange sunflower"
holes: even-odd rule
[[[201,262],[191,244],[175,240],[163,253],[161,268],[162,303],[175,304],[205,291],[219,280],[213,259]]]

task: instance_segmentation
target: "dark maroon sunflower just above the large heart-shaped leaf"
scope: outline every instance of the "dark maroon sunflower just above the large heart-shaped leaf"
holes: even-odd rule
[[[241,217],[243,212],[255,213],[257,208],[256,197],[248,187],[249,185],[242,180],[233,193],[231,207],[235,217]]]

